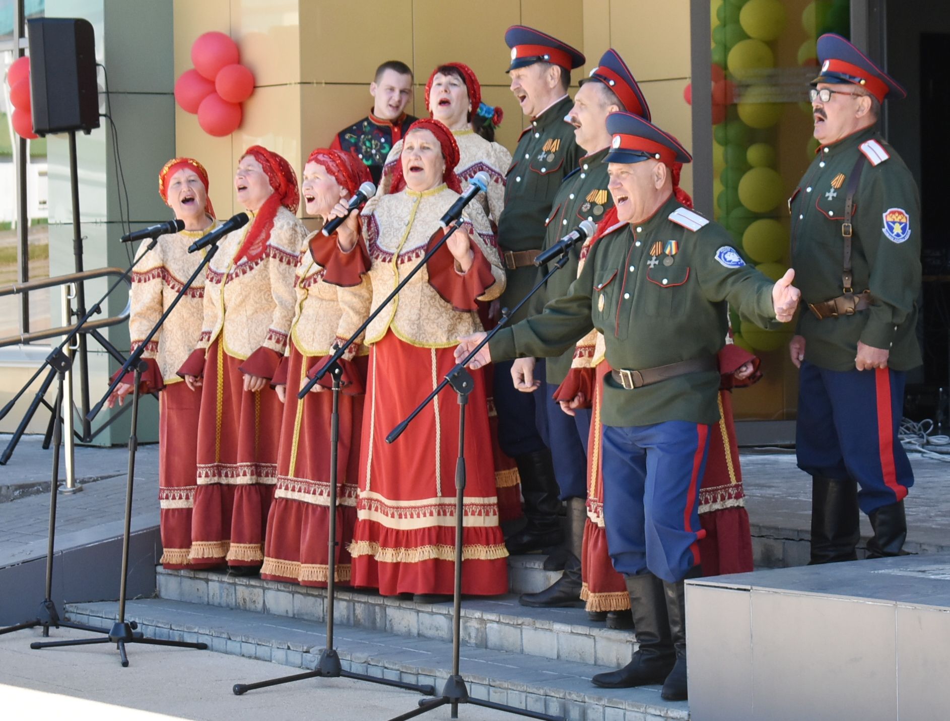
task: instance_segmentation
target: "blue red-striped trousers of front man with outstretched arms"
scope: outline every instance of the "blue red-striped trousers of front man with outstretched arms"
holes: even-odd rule
[[[699,563],[699,484],[709,426],[603,427],[603,522],[614,568],[682,580]]]

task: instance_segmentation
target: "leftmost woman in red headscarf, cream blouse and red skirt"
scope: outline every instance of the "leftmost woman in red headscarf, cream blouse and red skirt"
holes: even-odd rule
[[[159,194],[175,212],[175,218],[184,220],[184,230],[160,236],[150,251],[148,242],[139,247],[129,291],[128,332],[132,351],[142,345],[161,313],[179,294],[184,281],[199,266],[201,254],[189,254],[188,246],[218,225],[208,198],[208,173],[199,161],[173,158],[166,162],[159,173]],[[191,508],[195,499],[200,393],[189,391],[175,371],[198,342],[203,295],[204,276],[201,275],[142,351],[148,368],[142,373],[140,391],[161,390],[159,505],[161,563],[165,568],[190,567],[188,553],[191,550]],[[133,378],[133,373],[123,378],[108,401],[109,407],[116,400],[120,405],[123,403],[123,397],[132,391]]]

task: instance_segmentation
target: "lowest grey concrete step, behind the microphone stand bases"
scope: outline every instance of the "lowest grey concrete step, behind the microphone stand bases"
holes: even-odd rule
[[[248,583],[245,587],[255,586]],[[74,603],[68,604],[66,611],[71,620],[95,625],[105,622],[107,626],[117,617],[117,604]],[[203,641],[212,651],[304,669],[314,668],[326,643],[323,625],[300,617],[260,614],[165,598],[129,601],[125,618],[137,621],[147,637]],[[437,691],[442,689],[452,665],[452,644],[443,639],[420,637],[409,640],[405,635],[387,631],[336,626],[334,645],[345,670],[408,683],[429,683]],[[519,709],[563,714],[571,721],[689,719],[688,704],[663,701],[658,686],[618,690],[593,686],[591,676],[606,670],[609,667],[467,646],[462,647],[460,655],[460,672],[468,683],[469,693],[475,698]],[[283,674],[288,672],[275,667],[275,676]],[[258,680],[264,679],[233,679],[239,683]],[[250,693],[279,691],[268,689]],[[405,710],[393,711],[415,709],[416,698],[416,695],[407,693]]]

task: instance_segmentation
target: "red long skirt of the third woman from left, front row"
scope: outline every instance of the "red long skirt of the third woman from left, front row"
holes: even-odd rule
[[[330,422],[333,394],[321,386],[300,401],[307,371],[323,356],[304,356],[291,345],[287,400],[277,451],[277,484],[267,521],[262,579],[326,586],[329,578]],[[350,551],[359,489],[359,433],[363,396],[340,393],[336,457],[336,553],[333,579],[350,581]]]

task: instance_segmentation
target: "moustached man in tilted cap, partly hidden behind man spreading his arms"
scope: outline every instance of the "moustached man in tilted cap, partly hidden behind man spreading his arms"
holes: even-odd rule
[[[647,105],[637,81],[623,62],[618,52],[609,49],[580,83],[574,97],[574,106],[567,115],[567,122],[574,125],[574,138],[585,155],[578,165],[567,174],[557,194],[551,211],[545,219],[547,232],[543,250],[555,245],[561,237],[574,230],[581,220],[599,222],[613,205],[607,191],[607,163],[604,158],[610,149],[610,133],[607,132],[607,116],[618,110],[628,110],[650,119]],[[578,276],[580,244],[570,251],[570,259],[547,281],[541,291],[532,298],[532,314],[541,313],[544,304],[566,294]],[[542,268],[546,273],[553,267]],[[563,401],[571,412],[561,411],[554,399],[555,392],[571,369],[574,349],[560,356],[548,358],[537,367],[534,358],[519,358],[512,367],[515,388],[524,392],[538,391],[535,402],[544,404],[546,412],[539,420],[539,430],[557,468],[557,481],[561,501],[567,503],[567,533],[565,536],[564,573],[549,588],[537,594],[523,594],[519,598],[525,606],[570,606],[580,603],[580,557],[583,548],[584,524],[587,519],[587,436],[590,431],[591,411],[578,408],[588,405],[591,399],[576,396]],[[546,423],[544,423],[546,421]],[[608,624],[617,627],[622,617],[612,612]],[[629,619],[627,620],[629,628]]]

